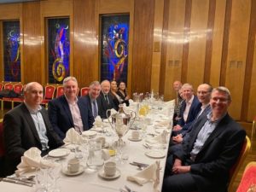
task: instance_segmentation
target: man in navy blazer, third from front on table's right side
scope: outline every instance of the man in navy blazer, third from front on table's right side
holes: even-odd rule
[[[191,84],[183,84],[183,99],[182,106],[180,109],[180,117],[177,125],[173,127],[172,136],[176,136],[182,131],[189,129],[189,126],[192,124],[194,119],[197,116],[197,113],[201,110],[201,102],[198,101],[197,96],[194,96],[193,86]]]

